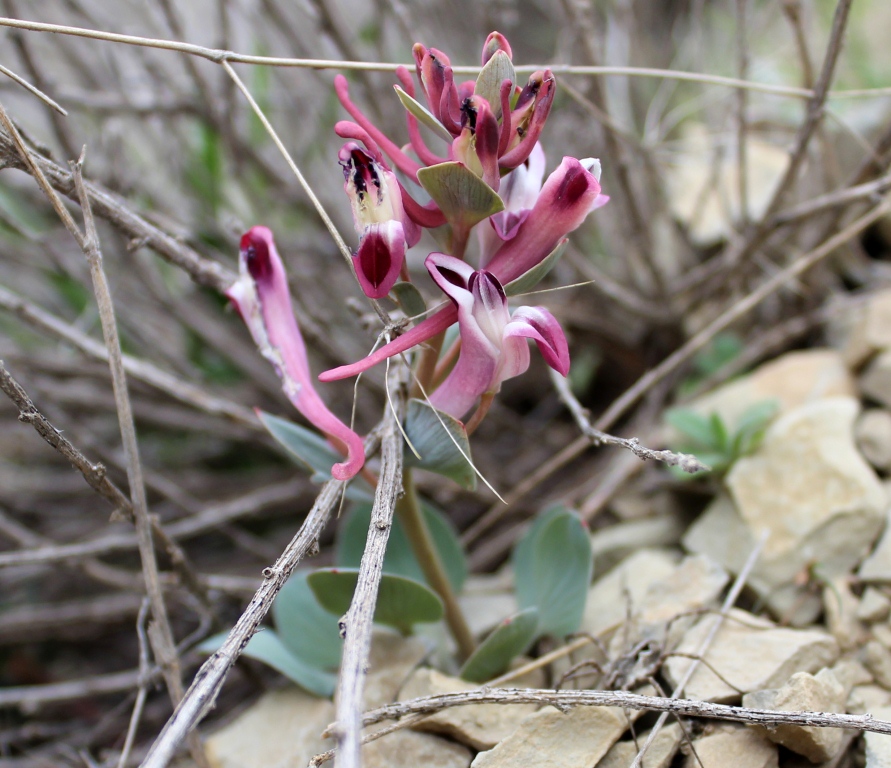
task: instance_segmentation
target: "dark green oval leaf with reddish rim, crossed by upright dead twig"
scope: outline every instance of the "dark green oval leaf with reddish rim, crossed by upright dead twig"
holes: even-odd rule
[[[319,603],[341,616],[350,607],[358,578],[358,568],[323,568],[310,574],[308,581]],[[415,624],[439,621],[442,613],[439,595],[420,582],[389,573],[381,577],[374,609],[378,624],[395,627],[407,635]]]

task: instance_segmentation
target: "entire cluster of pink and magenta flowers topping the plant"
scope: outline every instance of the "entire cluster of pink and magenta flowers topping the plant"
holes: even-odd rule
[[[550,70],[518,84],[510,45],[497,32],[486,39],[476,80],[456,82],[448,57],[435,48],[417,44],[413,54],[426,107],[415,98],[411,74],[400,67],[396,91],[406,108],[405,147],[351,100],[345,77],[335,79],[337,96],[353,118],[335,125],[347,140],[338,159],[359,236],[353,263],[363,292],[384,298],[400,277],[409,280],[406,250],[419,242],[422,230],[443,228],[450,253],[431,253],[425,266],[450,302],[365,359],[319,379],[358,374],[457,322],[460,346],[446,350],[439,366],[444,370],[425,385],[435,389],[436,408],[460,419],[481,396],[496,393],[503,381],[528,368],[528,339],[548,365],[567,374],[569,352],[556,319],[543,307],[511,313],[507,297],[511,283],[528,290],[537,282],[566,235],[609,198],[601,193],[598,160],[564,157],[545,178],[539,137],[556,92]],[[428,146],[422,126],[441,149]],[[421,190],[429,202],[418,202]],[[475,267],[467,258],[474,230]],[[309,381],[271,233],[254,227],[242,239],[241,256],[242,277],[230,297],[296,407],[347,456],[335,466],[335,476],[352,476],[363,460],[361,441],[328,411]],[[450,371],[447,361],[454,363]]]

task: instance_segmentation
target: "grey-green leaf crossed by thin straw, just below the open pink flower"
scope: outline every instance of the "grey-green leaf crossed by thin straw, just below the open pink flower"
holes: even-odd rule
[[[418,459],[407,450],[406,466],[445,475],[470,491],[476,488],[476,473],[470,463],[470,441],[464,425],[458,419],[436,410],[423,400],[411,400],[404,427],[408,439],[421,457]]]

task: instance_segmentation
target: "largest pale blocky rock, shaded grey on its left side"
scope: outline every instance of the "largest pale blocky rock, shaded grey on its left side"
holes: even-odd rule
[[[738,573],[766,530],[747,584],[794,625],[823,609],[808,589],[813,569],[823,580],[849,573],[884,522],[887,493],[854,446],[857,408],[829,398],[779,418],[761,448],[730,470],[730,496],[716,497],[684,537],[687,549]]]

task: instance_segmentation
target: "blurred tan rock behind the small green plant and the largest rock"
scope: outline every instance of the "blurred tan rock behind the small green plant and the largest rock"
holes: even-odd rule
[[[809,349],[788,352],[764,363],[752,373],[698,397],[688,407],[703,415],[717,413],[733,429],[748,408],[765,400],[774,401],[778,415],[783,415],[827,397],[856,396],[856,382],[841,355],[833,349]],[[677,440],[678,436],[671,438]]]

